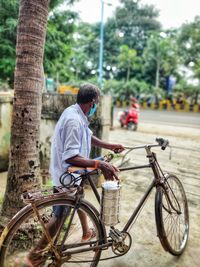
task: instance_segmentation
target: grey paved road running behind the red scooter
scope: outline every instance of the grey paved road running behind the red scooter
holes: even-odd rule
[[[117,117],[118,112],[122,110],[122,108],[115,108],[115,118]],[[200,113],[141,109],[140,123],[155,123],[200,128]]]

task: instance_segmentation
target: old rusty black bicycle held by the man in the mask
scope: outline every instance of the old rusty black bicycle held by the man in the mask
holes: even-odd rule
[[[60,192],[50,195],[46,195],[47,191],[23,195],[23,199],[28,205],[13,217],[0,238],[0,266],[16,266],[15,263],[13,264],[14,259],[26,256],[28,251],[36,246],[42,235],[45,235],[47,243],[38,252],[44,259],[44,264],[38,266],[94,267],[101,260],[126,254],[132,244],[129,234],[131,226],[154,187],[156,188],[155,219],[161,245],[172,255],[181,255],[189,235],[186,194],[180,180],[175,175],[163,173],[156,153],[151,151],[153,147],[161,147],[162,150],[165,150],[167,146],[169,146],[168,140],[157,138],[155,144],[127,147],[128,152],[145,149],[149,164],[123,167],[120,168],[120,171],[150,168],[154,178],[122,230],[111,226],[107,234],[100,212],[90,202],[83,199],[82,186],[74,187],[76,179],[88,180],[96,199],[101,203],[100,195],[91,179],[91,174],[96,170],[84,170],[79,178],[73,178],[73,172],[70,172],[72,179],[67,186],[64,185],[64,176],[61,177],[61,182],[65,187],[75,190],[74,196],[68,196],[68,193],[63,192],[62,189]],[[78,169],[81,170],[81,168]],[[66,207],[67,212],[63,216],[59,229],[56,229],[56,235],[51,237],[47,230],[47,224],[53,216],[53,207],[57,205]],[[95,229],[96,235],[87,242],[81,242],[82,228],[77,216],[79,210],[86,212],[90,227]],[[101,252],[109,248],[112,248],[113,256],[101,258]]]

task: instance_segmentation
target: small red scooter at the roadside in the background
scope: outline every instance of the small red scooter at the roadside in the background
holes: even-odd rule
[[[130,131],[136,131],[138,127],[139,107],[131,107],[121,112],[119,122],[121,127],[127,127]]]

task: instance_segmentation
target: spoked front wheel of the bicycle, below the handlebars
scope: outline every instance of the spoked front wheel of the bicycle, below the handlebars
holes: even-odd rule
[[[189,236],[189,211],[185,190],[175,175],[168,174],[164,186],[157,187],[155,218],[163,248],[172,255],[181,255]]]

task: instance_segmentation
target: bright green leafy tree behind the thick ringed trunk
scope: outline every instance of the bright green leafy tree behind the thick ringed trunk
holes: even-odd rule
[[[45,73],[56,76],[61,80],[68,78],[70,73],[69,60],[71,55],[71,40],[75,12],[58,11],[57,8],[65,3],[72,5],[75,0],[51,0],[50,16],[45,46]],[[7,81],[13,88],[15,68],[16,27],[19,10],[18,0],[0,1],[0,81]]]

